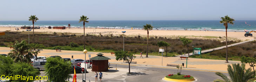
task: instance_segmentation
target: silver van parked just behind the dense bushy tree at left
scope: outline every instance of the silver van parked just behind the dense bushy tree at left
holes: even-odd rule
[[[45,70],[46,60],[34,60],[33,67],[40,70]]]

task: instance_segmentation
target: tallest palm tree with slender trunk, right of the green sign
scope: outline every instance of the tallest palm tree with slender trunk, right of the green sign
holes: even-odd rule
[[[225,63],[228,63],[228,36],[227,36],[228,23],[234,25],[233,21],[235,20],[233,18],[228,17],[228,15],[225,17],[221,17],[221,21],[220,21],[220,23],[221,24],[223,23],[223,25],[226,28],[226,62]]]

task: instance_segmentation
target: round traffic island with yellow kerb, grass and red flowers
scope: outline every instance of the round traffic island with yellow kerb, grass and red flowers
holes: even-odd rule
[[[169,74],[163,78],[163,80],[171,82],[192,82],[195,81],[193,76],[190,75],[173,75]]]

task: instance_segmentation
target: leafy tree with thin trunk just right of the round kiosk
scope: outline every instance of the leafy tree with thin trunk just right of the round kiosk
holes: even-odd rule
[[[136,58],[135,55],[133,55],[129,51],[115,51],[115,57],[116,60],[127,60],[129,64],[129,73],[130,73],[130,64],[134,58]]]

